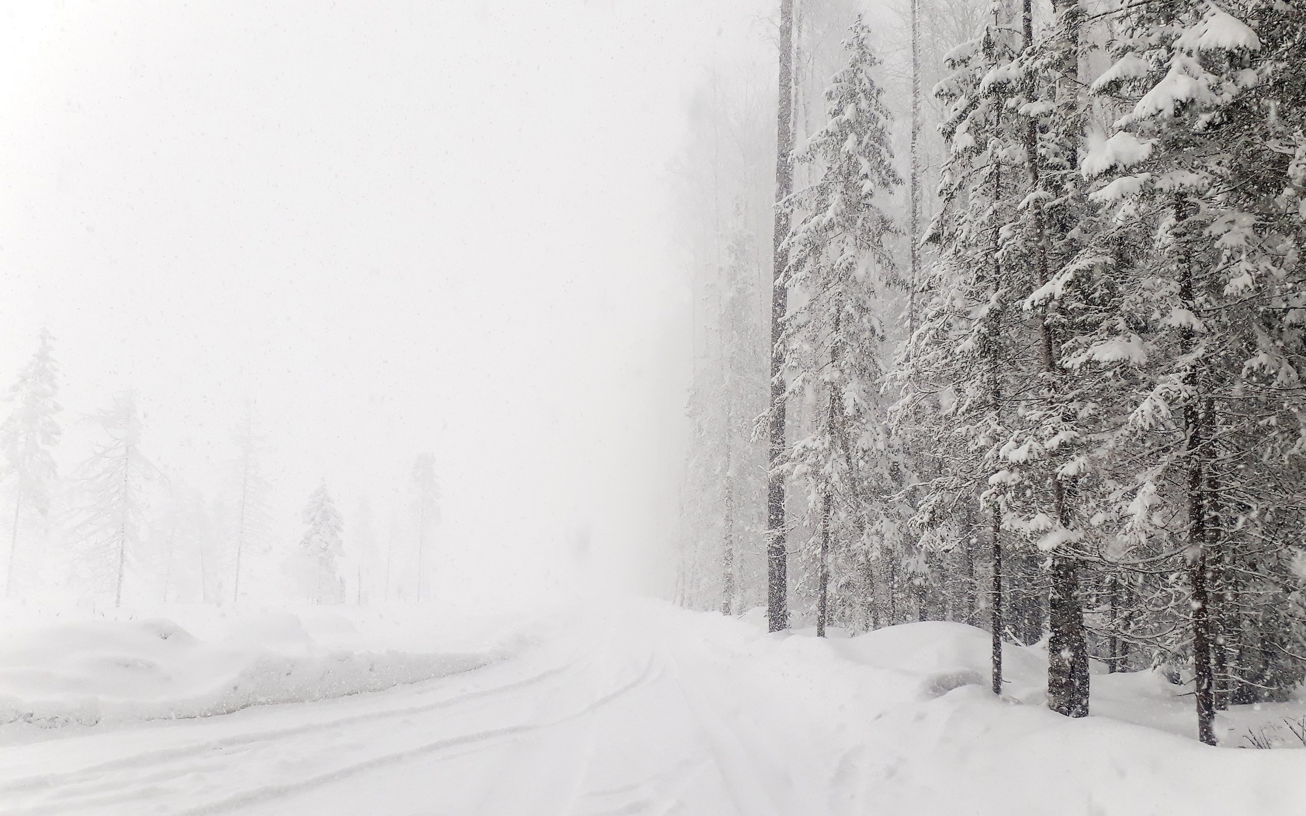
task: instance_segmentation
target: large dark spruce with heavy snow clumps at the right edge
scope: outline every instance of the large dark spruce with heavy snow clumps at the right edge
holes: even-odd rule
[[[1306,521],[1303,20],[1284,4],[1187,0],[1123,20],[1094,89],[1128,112],[1085,171],[1104,178],[1094,197],[1117,231],[1145,225],[1153,238],[1128,269],[1138,334],[1100,342],[1134,342],[1145,359],[1119,449],[1151,456],[1122,516],[1136,541],[1165,543],[1157,559],[1182,554],[1187,594],[1170,597],[1188,635],[1162,646],[1187,657],[1198,732],[1213,744],[1217,706],[1282,693],[1306,668],[1289,568]]]

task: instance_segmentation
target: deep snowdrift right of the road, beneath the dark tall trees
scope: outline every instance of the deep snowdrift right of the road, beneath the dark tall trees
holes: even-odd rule
[[[1046,653],[1006,645],[1010,683],[989,691],[989,633],[956,623],[912,623],[818,640],[767,635],[746,616],[684,621],[716,629],[713,649],[738,678],[744,702],[784,698],[806,729],[786,745],[829,779],[829,813],[976,816],[1245,816],[1306,813],[1306,749],[1254,751],[1246,727],[1306,714],[1279,706],[1220,713],[1220,747],[1196,740],[1192,697],[1164,676],[1092,678],[1092,713],[1070,719],[1043,700]],[[763,709],[767,719],[774,706]],[[832,714],[837,721],[829,726]],[[1297,749],[1289,749],[1294,745]],[[833,772],[831,769],[835,769]],[[802,769],[794,769],[801,773]]]

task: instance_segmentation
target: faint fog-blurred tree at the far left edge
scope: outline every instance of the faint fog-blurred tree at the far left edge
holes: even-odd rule
[[[18,529],[22,514],[44,517],[50,510],[50,490],[57,478],[52,448],[59,443],[59,366],[55,363],[52,337],[40,330],[40,341],[31,360],[9,386],[8,401],[13,410],[0,423],[0,448],[4,450],[3,478],[13,500],[13,522],[9,525],[9,557],[5,568],[5,597],[13,594],[18,567]]]

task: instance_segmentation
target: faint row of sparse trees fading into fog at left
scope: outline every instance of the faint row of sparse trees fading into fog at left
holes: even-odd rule
[[[396,479],[394,507],[376,518],[358,497],[346,521],[325,482],[306,497],[302,537],[281,537],[285,512],[264,477],[266,440],[255,405],[232,423],[217,495],[205,496],[150,458],[131,390],[76,418],[93,428],[65,475],[56,453],[64,416],[54,338],[9,386],[0,423],[9,527],[5,598],[61,598],[99,608],[129,603],[239,603],[290,597],[310,604],[422,601],[439,524],[435,457],[417,454]]]

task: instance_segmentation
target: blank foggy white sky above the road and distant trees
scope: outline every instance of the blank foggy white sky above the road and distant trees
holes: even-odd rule
[[[666,166],[757,5],[8,3],[0,377],[50,326],[65,426],[135,386],[206,488],[256,398],[290,535],[317,479],[347,514],[434,450],[447,590],[534,594],[584,526],[660,590],[690,313]]]

